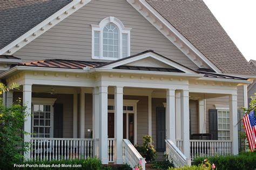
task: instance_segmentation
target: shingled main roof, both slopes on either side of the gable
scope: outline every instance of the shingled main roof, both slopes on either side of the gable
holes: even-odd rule
[[[203,1],[144,1],[224,73],[254,74]],[[1,2],[0,22],[6,24],[0,28],[0,49],[70,2],[72,0]]]

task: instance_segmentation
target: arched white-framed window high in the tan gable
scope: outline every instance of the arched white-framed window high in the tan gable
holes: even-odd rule
[[[130,56],[130,30],[115,17],[92,26],[92,58],[117,60]]]

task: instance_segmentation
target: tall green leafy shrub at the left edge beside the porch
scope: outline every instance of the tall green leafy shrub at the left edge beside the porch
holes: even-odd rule
[[[0,93],[17,89],[16,84],[9,87],[0,83]],[[26,117],[25,107],[13,104],[5,107],[0,101],[0,169],[12,167],[23,161],[23,152],[27,151],[29,143],[24,143],[22,128]],[[20,101],[18,101],[20,102]]]

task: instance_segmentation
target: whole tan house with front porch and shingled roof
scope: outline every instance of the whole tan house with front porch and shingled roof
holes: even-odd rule
[[[144,168],[144,135],[176,166],[241,149],[255,71],[203,1],[5,1],[1,16],[0,77],[21,85],[4,101],[32,113],[26,159]]]

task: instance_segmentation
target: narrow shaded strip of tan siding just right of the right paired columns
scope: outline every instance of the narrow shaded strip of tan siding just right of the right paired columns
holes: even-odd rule
[[[198,101],[190,100],[191,134],[198,133]]]

